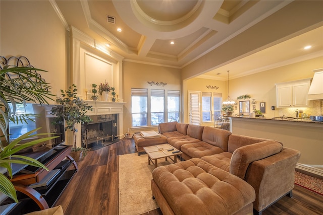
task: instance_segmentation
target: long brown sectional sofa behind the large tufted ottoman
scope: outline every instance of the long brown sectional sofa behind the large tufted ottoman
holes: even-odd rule
[[[255,191],[253,208],[259,214],[286,194],[292,196],[300,152],[284,148],[282,142],[177,122],[160,123],[158,130],[183,152],[184,160],[198,158],[250,184]],[[159,180],[156,172],[153,183]]]

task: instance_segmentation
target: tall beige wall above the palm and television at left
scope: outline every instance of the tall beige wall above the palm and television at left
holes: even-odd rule
[[[0,1],[0,6],[0,55],[25,56],[34,67],[47,70],[41,76],[60,95],[66,87],[68,32],[50,3]]]

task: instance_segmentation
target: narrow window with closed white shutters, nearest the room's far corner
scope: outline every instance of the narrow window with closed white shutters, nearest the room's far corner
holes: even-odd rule
[[[200,124],[200,94],[189,92],[189,124]]]

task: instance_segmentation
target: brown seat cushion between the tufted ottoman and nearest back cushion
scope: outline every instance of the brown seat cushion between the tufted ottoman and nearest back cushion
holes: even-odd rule
[[[201,159],[207,163],[212,164],[214,167],[219,167],[227,172],[230,172],[230,162],[232,153],[223,152],[220,154],[214,154],[210,156],[204,156]]]

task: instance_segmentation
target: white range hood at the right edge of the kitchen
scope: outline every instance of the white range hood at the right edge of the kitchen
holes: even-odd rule
[[[323,68],[314,69],[314,77],[308,90],[307,99],[323,100]]]

